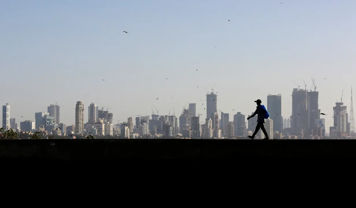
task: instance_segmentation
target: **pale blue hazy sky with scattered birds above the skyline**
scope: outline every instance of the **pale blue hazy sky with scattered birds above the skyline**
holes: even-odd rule
[[[230,121],[268,94],[282,94],[285,118],[292,79],[310,89],[315,77],[329,132],[342,89],[350,109],[355,11],[355,0],[3,0],[0,104],[17,123],[58,102],[61,122],[74,124],[77,101],[85,122],[90,102],[111,108],[114,123],[153,104],[179,117],[187,101],[205,119],[204,86],[216,83]]]

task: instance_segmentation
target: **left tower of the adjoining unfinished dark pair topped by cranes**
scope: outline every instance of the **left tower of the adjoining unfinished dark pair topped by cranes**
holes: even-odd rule
[[[294,88],[292,92],[292,117],[290,127],[294,135],[300,135],[309,128],[308,91]]]

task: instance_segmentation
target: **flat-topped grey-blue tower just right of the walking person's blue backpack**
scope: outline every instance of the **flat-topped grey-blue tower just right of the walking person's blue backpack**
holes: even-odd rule
[[[267,111],[273,120],[273,130],[282,132],[282,95],[267,96]]]

